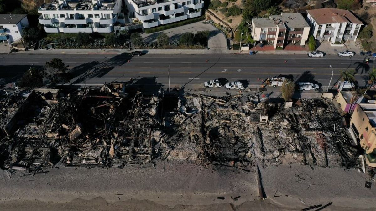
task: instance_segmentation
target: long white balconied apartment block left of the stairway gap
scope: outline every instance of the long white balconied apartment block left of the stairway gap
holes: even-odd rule
[[[53,0],[38,8],[46,32],[113,32],[124,23],[121,0]]]

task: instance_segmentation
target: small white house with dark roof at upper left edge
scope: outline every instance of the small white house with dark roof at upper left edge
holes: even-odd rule
[[[26,15],[0,14],[0,40],[8,44],[21,39],[23,29],[29,26]]]

